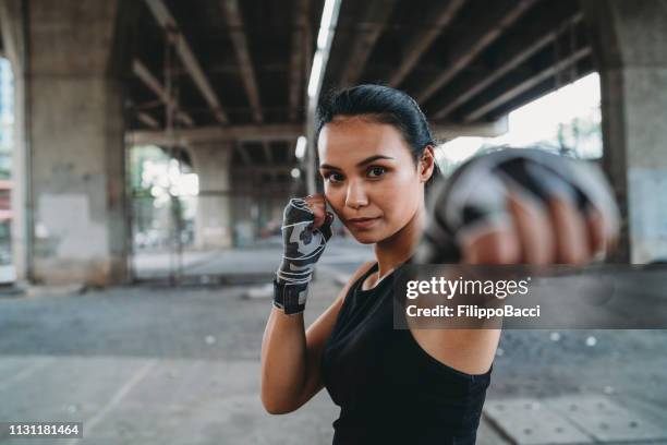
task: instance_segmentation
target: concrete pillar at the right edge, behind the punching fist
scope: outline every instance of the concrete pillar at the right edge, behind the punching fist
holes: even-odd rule
[[[601,75],[605,170],[627,216],[617,261],[667,257],[667,2],[582,0]]]

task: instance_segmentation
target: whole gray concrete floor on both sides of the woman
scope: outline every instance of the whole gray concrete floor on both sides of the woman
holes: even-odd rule
[[[306,324],[338,288],[318,275]],[[329,444],[338,408],[326,392],[294,413],[264,411],[259,348],[270,303],[244,299],[246,289],[0,298],[0,421],[84,423],[84,440],[53,444]],[[506,332],[488,400],[605,397],[667,438],[666,352],[664,330]],[[485,416],[478,443],[507,443],[499,430]],[[14,443],[25,441],[0,436]]]

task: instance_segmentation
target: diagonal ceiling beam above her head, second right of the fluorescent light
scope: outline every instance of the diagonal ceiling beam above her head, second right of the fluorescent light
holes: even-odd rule
[[[440,1],[434,4],[435,9],[427,14],[428,20],[433,17],[434,24],[432,26],[422,27],[414,37],[410,39],[410,43],[405,45],[405,55],[402,58],[400,67],[389,80],[390,86],[396,88],[403,82],[410,71],[416,65],[420,58],[430,48],[430,45],[440,33],[442,33],[442,29],[449,26],[464,2],[465,0],[451,0],[445,2]]]

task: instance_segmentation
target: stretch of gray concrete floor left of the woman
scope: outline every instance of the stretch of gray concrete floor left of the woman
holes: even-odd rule
[[[337,409],[324,392],[294,414],[264,411],[259,347],[270,303],[243,291],[0,299],[0,421],[84,423],[83,441],[54,444],[330,443]],[[328,300],[313,299],[310,321]]]

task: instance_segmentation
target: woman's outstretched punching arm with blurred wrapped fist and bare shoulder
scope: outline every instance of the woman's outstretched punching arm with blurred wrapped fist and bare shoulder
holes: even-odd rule
[[[606,253],[618,237],[611,189],[584,161],[535,149],[496,152],[469,161],[448,187],[432,208],[421,263],[445,263],[438,256],[451,256],[456,245],[462,264],[581,265]],[[476,219],[457,218],[471,208]],[[430,356],[470,374],[488,370],[500,337],[499,329],[412,333]]]

